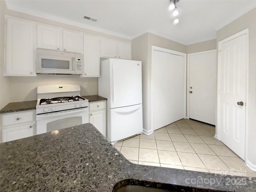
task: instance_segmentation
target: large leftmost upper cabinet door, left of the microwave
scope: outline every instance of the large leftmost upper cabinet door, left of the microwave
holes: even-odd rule
[[[36,76],[34,64],[34,23],[7,18],[5,33],[7,76]]]

